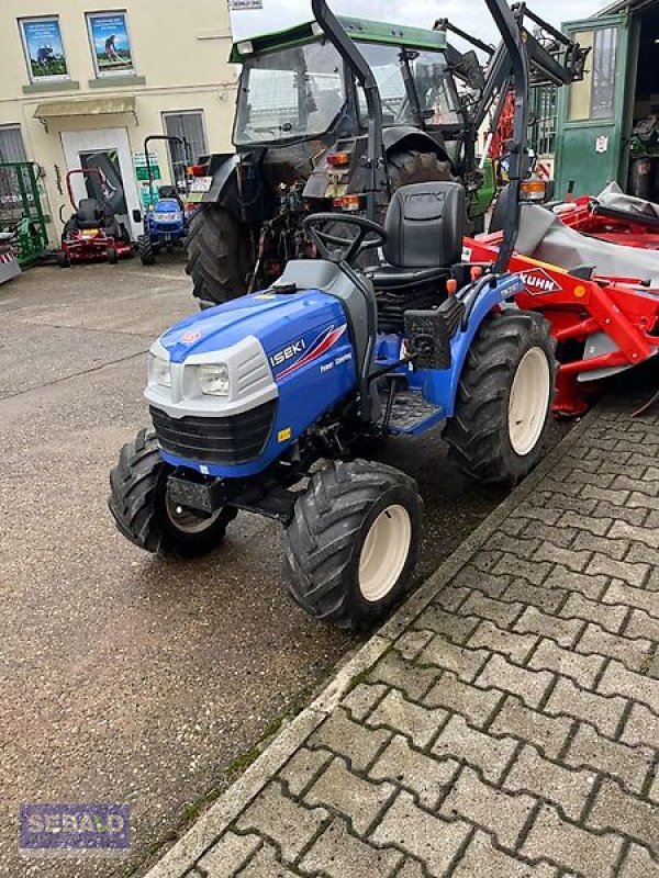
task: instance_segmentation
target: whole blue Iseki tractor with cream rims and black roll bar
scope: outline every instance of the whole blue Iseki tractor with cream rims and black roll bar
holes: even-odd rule
[[[528,68],[505,0],[487,2],[517,95],[496,262],[461,261],[459,182],[401,187],[384,226],[346,215],[337,229],[335,213],[310,214],[319,258],[290,260],[270,286],[182,320],[152,347],[153,429],[124,446],[110,476],[116,526],[142,549],[192,558],[217,547],[239,510],[267,516],[284,527],[294,600],[366,628],[400,600],[422,536],[416,484],[364,459],[368,440],[444,424],[450,458],[482,484],[515,484],[540,459],[555,342],[541,315],[514,304],[524,282],[507,271]],[[355,53],[378,144],[375,78],[325,0],[313,10],[338,50]],[[375,182],[377,164],[368,170]],[[366,251],[383,259],[361,268]]]

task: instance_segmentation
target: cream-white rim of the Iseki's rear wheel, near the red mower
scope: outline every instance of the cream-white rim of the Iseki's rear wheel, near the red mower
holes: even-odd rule
[[[534,450],[543,434],[550,395],[547,354],[541,348],[532,348],[520,361],[509,402],[509,437],[521,458]]]

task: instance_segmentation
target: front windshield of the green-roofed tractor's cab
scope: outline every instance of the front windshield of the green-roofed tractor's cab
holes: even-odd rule
[[[246,57],[234,144],[317,137],[333,126],[345,100],[343,63],[330,43]]]

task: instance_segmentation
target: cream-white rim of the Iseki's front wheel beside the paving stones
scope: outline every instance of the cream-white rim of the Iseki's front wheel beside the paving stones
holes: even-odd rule
[[[412,521],[404,506],[388,506],[366,534],[359,555],[359,590],[365,600],[382,600],[400,578],[412,543]]]

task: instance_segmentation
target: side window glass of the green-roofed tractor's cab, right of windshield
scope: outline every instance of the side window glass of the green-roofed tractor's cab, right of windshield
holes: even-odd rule
[[[440,52],[361,43],[359,49],[378,82],[384,125],[455,125],[460,101],[446,58]],[[361,119],[367,116],[364,91],[358,89]]]

